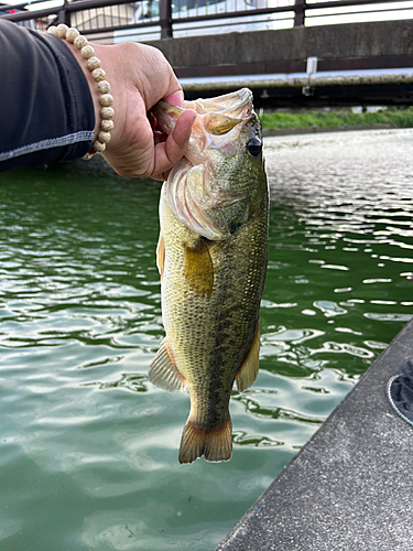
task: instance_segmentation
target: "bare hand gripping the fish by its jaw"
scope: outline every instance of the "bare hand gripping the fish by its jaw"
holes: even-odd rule
[[[163,54],[140,43],[110,46],[93,44],[101,61],[113,96],[113,130],[102,156],[122,176],[165,180],[185,154],[196,114],[184,111],[167,138],[156,132],[148,111],[160,100],[183,107],[184,94]],[[95,105],[95,137],[99,131],[100,105],[97,86],[85,60],[72,48],[89,83]]]

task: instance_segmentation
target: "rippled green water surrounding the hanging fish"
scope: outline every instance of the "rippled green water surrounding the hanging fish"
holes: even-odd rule
[[[0,551],[210,551],[413,313],[413,131],[268,139],[256,385],[229,463],[177,463],[160,184],[102,163],[0,174]]]

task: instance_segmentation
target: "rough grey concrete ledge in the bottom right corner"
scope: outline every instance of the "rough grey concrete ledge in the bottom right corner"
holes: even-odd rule
[[[413,428],[387,383],[413,359],[413,321],[217,551],[412,551]]]

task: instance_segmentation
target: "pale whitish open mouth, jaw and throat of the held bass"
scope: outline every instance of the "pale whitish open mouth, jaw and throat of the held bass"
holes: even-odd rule
[[[170,134],[185,109],[194,109],[197,118],[187,153],[167,177],[165,201],[176,218],[192,231],[210,240],[221,240],[231,233],[221,207],[242,201],[246,194],[235,193],[222,182],[214,164],[217,165],[217,155],[222,166],[226,159],[242,154],[240,134],[257,117],[252,110],[252,93],[242,88],[216,98],[184,101],[183,108],[160,101],[153,112]]]

